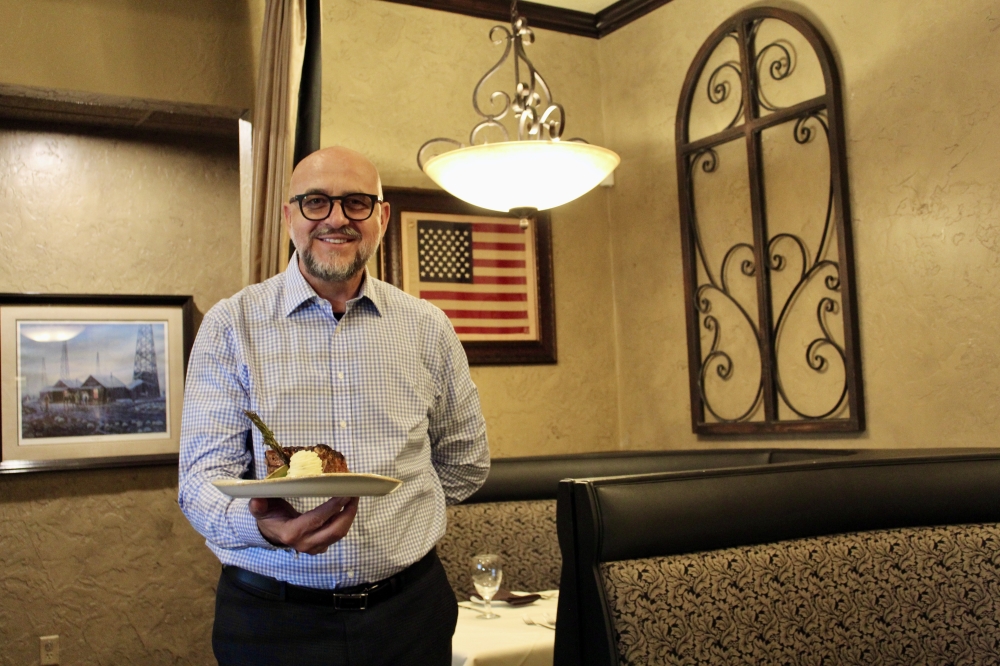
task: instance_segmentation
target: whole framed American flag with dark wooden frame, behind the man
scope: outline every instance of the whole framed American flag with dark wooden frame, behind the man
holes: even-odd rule
[[[439,190],[386,188],[382,279],[441,308],[472,365],[555,363],[552,229]]]

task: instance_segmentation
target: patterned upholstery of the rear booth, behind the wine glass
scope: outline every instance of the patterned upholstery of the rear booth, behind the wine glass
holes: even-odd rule
[[[448,507],[448,529],[437,544],[438,556],[459,599],[475,594],[471,558],[499,553],[504,558],[502,586],[508,590],[559,587],[562,557],[556,534],[555,500],[484,502]]]

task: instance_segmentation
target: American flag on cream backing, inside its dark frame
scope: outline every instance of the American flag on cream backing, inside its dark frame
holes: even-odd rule
[[[462,340],[538,339],[531,227],[495,217],[403,218],[405,291],[444,310]]]

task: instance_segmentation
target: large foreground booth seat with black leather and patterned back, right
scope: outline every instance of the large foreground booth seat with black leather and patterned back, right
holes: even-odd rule
[[[998,522],[997,450],[566,480],[555,664],[997,664]]]

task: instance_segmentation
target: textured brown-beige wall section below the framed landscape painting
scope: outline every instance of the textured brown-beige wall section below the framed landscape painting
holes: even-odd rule
[[[177,470],[0,479],[0,664],[214,664],[215,558],[177,509]]]

